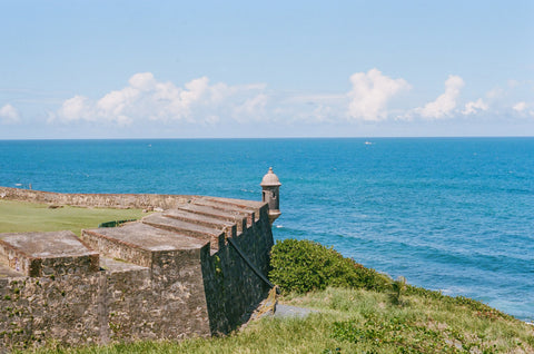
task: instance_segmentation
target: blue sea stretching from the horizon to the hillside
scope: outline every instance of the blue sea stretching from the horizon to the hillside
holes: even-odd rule
[[[260,199],[309,238],[411,284],[534,319],[534,138],[0,141],[0,185]]]

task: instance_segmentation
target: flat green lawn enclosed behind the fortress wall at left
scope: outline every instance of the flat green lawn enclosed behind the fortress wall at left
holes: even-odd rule
[[[110,220],[138,219],[141,209],[105,209],[0,199],[0,233],[55,232],[69,229],[78,236],[82,228],[96,228]]]

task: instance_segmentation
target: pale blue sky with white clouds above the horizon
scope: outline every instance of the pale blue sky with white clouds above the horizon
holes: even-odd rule
[[[0,0],[0,139],[534,136],[534,1]]]

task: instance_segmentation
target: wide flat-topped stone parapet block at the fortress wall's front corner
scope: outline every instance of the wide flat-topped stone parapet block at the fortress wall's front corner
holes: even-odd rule
[[[102,256],[150,267],[152,255],[161,252],[199,249],[209,237],[190,237],[139,222],[120,227],[83,229],[81,239]]]

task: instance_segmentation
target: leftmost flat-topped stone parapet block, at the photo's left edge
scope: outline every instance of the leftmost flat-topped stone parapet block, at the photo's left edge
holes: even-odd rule
[[[0,234],[0,262],[26,276],[98,272],[99,254],[72,232]]]

